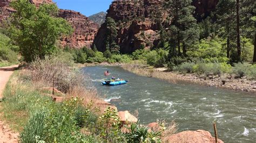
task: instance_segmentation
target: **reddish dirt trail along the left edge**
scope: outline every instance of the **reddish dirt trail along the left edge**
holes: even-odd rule
[[[17,69],[18,65],[0,68],[0,98],[3,97],[3,90],[6,83],[8,82],[14,70]],[[1,113],[2,114],[2,113]],[[10,128],[4,124],[4,121],[0,119],[0,143],[2,142],[18,142],[19,133],[14,133]]]

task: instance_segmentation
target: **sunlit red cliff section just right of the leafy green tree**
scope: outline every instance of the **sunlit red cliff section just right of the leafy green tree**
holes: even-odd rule
[[[72,48],[91,47],[98,31],[98,24],[92,22],[80,12],[72,10],[60,10],[59,17],[68,20],[74,29],[71,37],[63,37],[61,39],[62,46]]]

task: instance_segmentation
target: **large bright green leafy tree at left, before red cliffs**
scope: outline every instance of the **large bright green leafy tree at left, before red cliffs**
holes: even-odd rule
[[[68,22],[57,17],[56,4],[42,4],[36,8],[28,0],[20,0],[12,2],[11,7],[16,12],[10,19],[10,37],[27,62],[51,54],[56,41],[72,32]]]

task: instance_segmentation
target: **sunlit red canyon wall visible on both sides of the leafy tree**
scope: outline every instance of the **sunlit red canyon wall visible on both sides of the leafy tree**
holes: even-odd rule
[[[11,0],[0,0],[0,23],[14,12],[14,9],[9,6],[10,2]],[[51,0],[30,0],[30,2],[36,6],[43,3],[53,3]],[[74,29],[74,32],[70,37],[63,37],[61,39],[60,44],[63,47],[69,46],[71,48],[81,48],[84,46],[91,46],[99,27],[98,24],[93,23],[81,13],[71,10],[60,10],[59,17],[68,20]]]

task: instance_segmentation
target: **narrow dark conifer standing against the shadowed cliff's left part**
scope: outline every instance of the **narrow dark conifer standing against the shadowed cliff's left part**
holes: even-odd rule
[[[114,19],[111,17],[106,18],[106,41],[105,41],[105,46],[106,49],[109,48],[110,52],[112,53],[119,53],[120,47],[117,45],[117,26],[116,22],[114,22]]]

